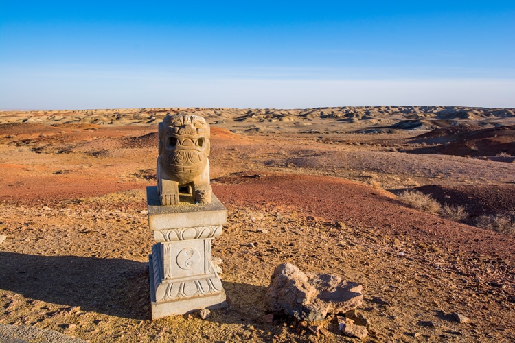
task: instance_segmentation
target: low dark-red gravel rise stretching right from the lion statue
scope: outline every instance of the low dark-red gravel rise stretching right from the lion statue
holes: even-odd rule
[[[503,257],[515,262],[515,238],[408,208],[389,193],[328,176],[240,174],[218,178],[223,202],[254,207],[288,206],[320,220],[374,228],[385,235],[434,242],[451,251]]]

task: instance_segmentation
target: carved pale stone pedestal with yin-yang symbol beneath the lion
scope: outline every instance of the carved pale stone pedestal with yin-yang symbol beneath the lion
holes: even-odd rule
[[[227,306],[211,261],[211,240],[222,235],[227,209],[214,195],[211,204],[180,198],[161,206],[157,187],[147,187],[148,224],[157,241],[149,255],[152,319]]]

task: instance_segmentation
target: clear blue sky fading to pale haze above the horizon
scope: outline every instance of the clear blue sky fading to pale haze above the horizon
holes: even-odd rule
[[[515,1],[4,1],[0,108],[515,107]]]

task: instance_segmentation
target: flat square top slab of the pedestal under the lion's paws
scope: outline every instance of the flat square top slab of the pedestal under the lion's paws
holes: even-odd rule
[[[213,194],[210,204],[195,204],[192,196],[180,195],[177,205],[161,206],[157,186],[147,187],[150,230],[220,226],[227,223],[227,209]]]

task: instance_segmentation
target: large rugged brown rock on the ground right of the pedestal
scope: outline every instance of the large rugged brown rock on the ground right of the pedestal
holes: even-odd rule
[[[363,303],[361,285],[339,276],[304,274],[290,263],[278,265],[271,276],[265,305],[275,314],[298,320],[323,320],[328,313],[340,313]]]

